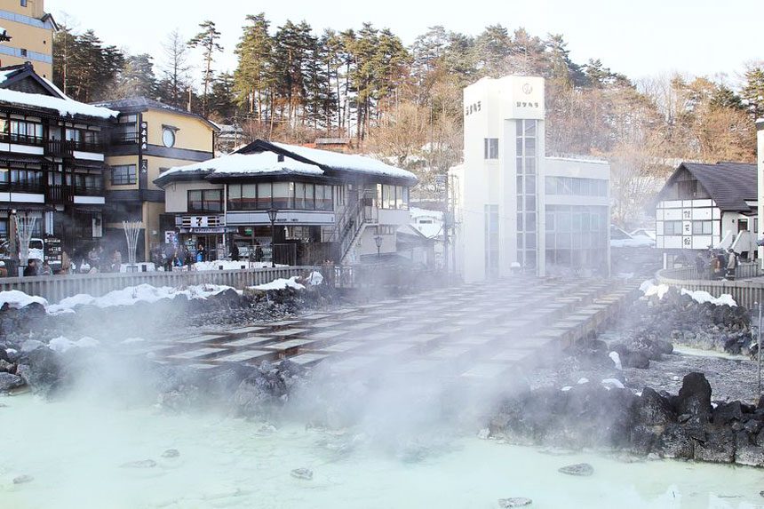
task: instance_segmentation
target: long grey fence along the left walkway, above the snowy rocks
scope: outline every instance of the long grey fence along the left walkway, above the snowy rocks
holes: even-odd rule
[[[112,290],[122,290],[129,286],[150,284],[152,286],[180,287],[193,284],[221,284],[243,289],[288,279],[304,271],[316,270],[313,266],[277,266],[242,270],[199,270],[181,272],[136,272],[129,274],[69,274],[30,277],[4,277],[0,279],[0,290],[20,290],[28,295],[39,295],[49,302],[59,302],[62,298],[78,293],[93,297],[106,295]],[[338,278],[338,282],[344,281]]]

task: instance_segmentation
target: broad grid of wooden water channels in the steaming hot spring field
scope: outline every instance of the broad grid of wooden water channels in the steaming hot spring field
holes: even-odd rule
[[[410,376],[494,379],[601,330],[637,294],[633,283],[528,278],[140,342],[125,353],[202,370],[289,359],[337,374],[388,366]]]

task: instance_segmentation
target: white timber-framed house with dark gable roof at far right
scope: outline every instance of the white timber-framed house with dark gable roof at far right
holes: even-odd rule
[[[657,200],[656,247],[664,251],[668,265],[709,248],[754,256],[755,164],[681,163]]]

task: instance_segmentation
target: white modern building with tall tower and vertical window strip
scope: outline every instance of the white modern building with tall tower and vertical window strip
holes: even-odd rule
[[[609,164],[545,157],[544,78],[464,91],[464,163],[451,169],[456,272],[609,272]]]

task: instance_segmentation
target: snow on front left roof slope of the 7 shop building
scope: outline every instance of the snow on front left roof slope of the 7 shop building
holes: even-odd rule
[[[215,157],[201,163],[174,166],[163,172],[162,178],[179,173],[215,173],[220,175],[233,174],[293,174],[293,175],[322,175],[323,170],[314,164],[301,163],[289,157],[283,161],[273,152],[259,154],[229,154]]]

